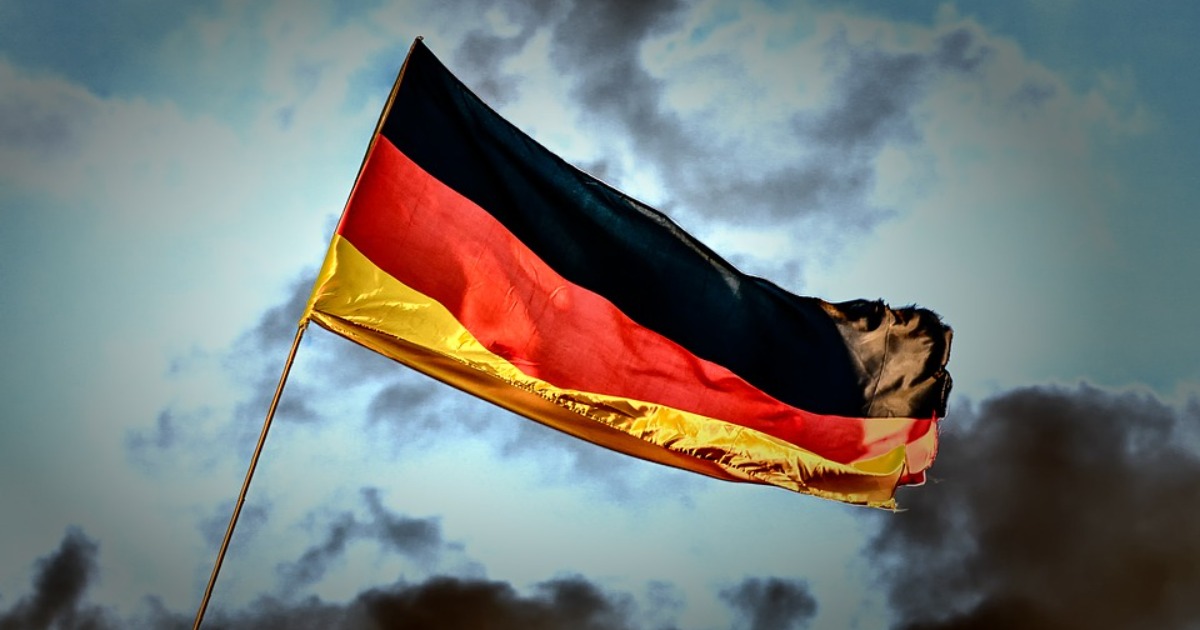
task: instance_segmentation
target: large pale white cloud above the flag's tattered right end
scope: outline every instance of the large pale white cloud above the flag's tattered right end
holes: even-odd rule
[[[920,148],[878,162],[875,197],[904,210],[814,282],[920,301],[958,325],[960,392],[1097,377],[1081,359],[1097,330],[1080,318],[1104,307],[1097,281],[1127,254],[1102,148],[1140,132],[1145,114],[1135,94],[1109,98],[1103,78],[1073,89],[974,23],[946,20],[925,37],[959,28],[989,50],[978,74],[940,77],[918,107]]]

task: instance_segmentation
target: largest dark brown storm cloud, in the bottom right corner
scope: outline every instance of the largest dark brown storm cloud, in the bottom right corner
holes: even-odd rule
[[[898,628],[1200,626],[1196,401],[1032,388],[955,415],[874,540]]]

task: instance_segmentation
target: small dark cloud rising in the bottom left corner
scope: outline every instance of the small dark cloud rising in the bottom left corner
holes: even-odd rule
[[[96,575],[97,551],[96,541],[68,529],[59,548],[37,562],[34,592],[0,611],[0,630],[115,628],[102,608],[83,602]]]

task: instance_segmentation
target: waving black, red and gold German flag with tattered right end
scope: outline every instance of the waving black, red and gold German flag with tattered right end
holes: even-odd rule
[[[420,38],[304,320],[620,452],[874,506],[924,480],[950,386],[932,312],[738,271]]]

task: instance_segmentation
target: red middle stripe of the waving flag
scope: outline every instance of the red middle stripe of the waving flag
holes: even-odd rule
[[[772,398],[568,282],[384,137],[338,234],[445,306],[491,352],[560,388],[718,418],[839,462],[881,455],[934,430],[929,419],[820,415]],[[931,463],[920,460],[910,469]]]

